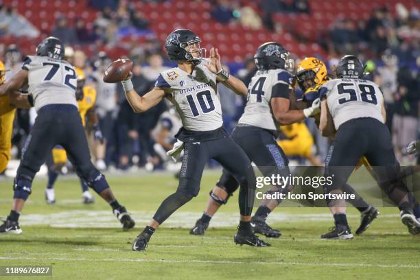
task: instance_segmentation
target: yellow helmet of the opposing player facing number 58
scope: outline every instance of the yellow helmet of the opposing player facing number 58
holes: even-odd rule
[[[327,78],[327,67],[318,58],[304,58],[297,66],[296,78],[301,89],[306,91]]]

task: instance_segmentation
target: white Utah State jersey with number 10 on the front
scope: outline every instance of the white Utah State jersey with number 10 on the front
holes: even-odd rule
[[[204,63],[194,67],[191,75],[175,67],[160,73],[156,80],[155,86],[170,93],[167,98],[174,104],[186,130],[209,131],[223,124],[216,75]]]

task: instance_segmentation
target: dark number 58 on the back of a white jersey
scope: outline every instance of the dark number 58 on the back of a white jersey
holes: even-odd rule
[[[347,88],[345,88],[347,86]],[[376,95],[375,88],[371,84],[359,84],[360,89],[360,100],[362,102],[367,102],[376,105]],[[337,86],[338,94],[347,94],[348,96],[342,97],[338,100],[338,104],[343,104],[350,101],[357,101],[358,94],[354,89],[354,84],[338,84]]]

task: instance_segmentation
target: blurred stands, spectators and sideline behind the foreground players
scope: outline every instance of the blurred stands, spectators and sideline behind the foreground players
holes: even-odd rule
[[[106,66],[119,57],[135,62],[133,83],[138,93],[150,90],[159,72],[174,67],[163,42],[177,28],[193,30],[207,49],[218,47],[222,62],[246,84],[255,73],[253,54],[267,41],[281,43],[299,62],[316,56],[331,68],[345,54],[366,64],[366,78],[380,85],[402,165],[415,163],[406,145],[419,138],[420,1],[417,0],[0,0],[0,60],[8,77],[19,71],[42,38],[56,36],[65,55],[86,73],[86,84],[97,91],[96,113],[106,139],[93,140],[87,126],[93,160],[100,170],[126,171],[171,168],[165,150],[180,127],[172,106],[161,102],[135,115],[120,84],[105,84]],[[245,101],[220,86],[224,126],[231,130]],[[12,154],[16,165],[36,113],[19,109],[14,124]],[[288,129],[293,133],[288,133]],[[295,135],[312,137],[311,157],[292,154],[299,164],[322,163],[328,140],[313,121],[304,128],[283,128],[283,141]],[[357,139],[355,139],[357,141]],[[299,143],[298,143],[299,145]],[[210,162],[209,166],[217,166]],[[71,170],[71,166],[69,166]]]

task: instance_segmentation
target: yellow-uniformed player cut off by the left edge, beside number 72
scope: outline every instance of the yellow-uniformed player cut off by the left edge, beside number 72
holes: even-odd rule
[[[5,82],[5,66],[0,61],[0,86]],[[0,174],[8,167],[12,149],[13,119],[16,107],[10,104],[8,95],[0,96]]]

